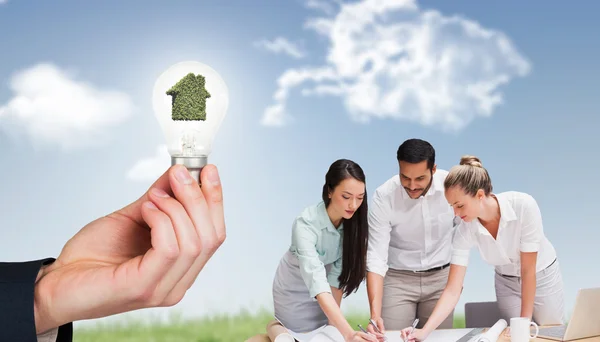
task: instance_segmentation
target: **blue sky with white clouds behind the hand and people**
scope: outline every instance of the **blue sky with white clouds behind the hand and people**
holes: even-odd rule
[[[600,5],[373,3],[0,1],[0,260],[57,256],[164,172],[152,87],[196,60],[229,88],[210,156],[228,239],[180,304],[135,315],[270,307],[292,221],[329,165],[358,162],[372,194],[412,137],[442,169],[474,154],[496,192],[537,199],[570,311],[600,286]],[[471,260],[458,311],[494,299],[492,268]],[[367,305],[363,286],[344,309]]]

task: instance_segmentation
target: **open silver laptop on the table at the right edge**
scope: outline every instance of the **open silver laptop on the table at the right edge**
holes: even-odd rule
[[[600,287],[577,291],[573,316],[568,325],[540,328],[538,338],[573,341],[600,336]]]

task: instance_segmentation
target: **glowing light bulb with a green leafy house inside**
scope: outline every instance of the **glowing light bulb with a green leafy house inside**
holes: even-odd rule
[[[229,106],[227,85],[208,65],[181,62],[158,77],[152,102],[171,165],[185,165],[200,182],[200,172]]]

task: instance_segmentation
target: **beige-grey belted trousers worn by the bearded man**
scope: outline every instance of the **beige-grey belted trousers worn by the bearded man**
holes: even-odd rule
[[[449,272],[450,267],[427,273],[389,269],[383,280],[381,306],[385,329],[401,330],[410,327],[415,318],[419,318],[417,328],[422,328],[442,296]],[[451,329],[453,321],[454,310],[439,329]]]

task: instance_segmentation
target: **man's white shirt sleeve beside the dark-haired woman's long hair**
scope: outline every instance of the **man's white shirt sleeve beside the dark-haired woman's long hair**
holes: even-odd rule
[[[388,271],[388,249],[392,226],[389,220],[390,203],[375,191],[369,205],[369,243],[367,246],[367,271],[385,277]]]

